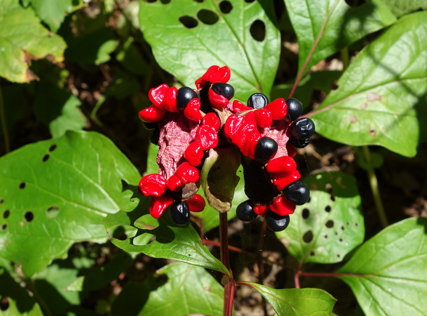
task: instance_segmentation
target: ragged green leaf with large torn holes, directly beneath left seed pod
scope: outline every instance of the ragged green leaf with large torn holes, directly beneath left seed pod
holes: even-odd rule
[[[177,225],[172,221],[169,208],[155,220],[158,224],[146,224],[145,218],[151,217],[148,211],[151,197],[137,193],[136,186],[133,191],[133,197],[140,198],[135,210],[109,214],[104,221],[114,245],[128,252],[142,252],[154,258],[172,259],[229,273],[202,243],[191,224]]]

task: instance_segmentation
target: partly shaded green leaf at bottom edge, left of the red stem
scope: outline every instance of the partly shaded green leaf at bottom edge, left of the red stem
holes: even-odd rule
[[[222,316],[224,289],[205,269],[186,263],[164,266],[143,283],[128,282],[111,315]]]

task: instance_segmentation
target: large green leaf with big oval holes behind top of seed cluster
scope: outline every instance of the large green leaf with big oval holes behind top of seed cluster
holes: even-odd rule
[[[264,11],[264,9],[266,11]],[[272,1],[140,2],[139,22],[158,64],[194,87],[211,65],[231,69],[235,97],[270,94],[280,55]],[[252,35],[251,35],[252,33]],[[256,39],[255,39],[256,38]]]

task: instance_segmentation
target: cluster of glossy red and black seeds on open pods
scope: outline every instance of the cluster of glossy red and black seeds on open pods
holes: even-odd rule
[[[196,194],[199,173],[207,152],[233,144],[242,153],[245,193],[249,200],[237,207],[237,217],[251,221],[265,216],[267,226],[284,230],[295,205],[307,202],[310,192],[292,159],[295,148],[310,143],[314,124],[299,118],[301,103],[293,98],[269,102],[255,93],[247,105],[230,102],[234,88],[227,82],[230,69],[212,66],[196,80],[196,88],[168,87],[149,92],[152,106],[139,113],[150,141],[159,145],[159,174],[148,174],[139,184],[140,192],[151,195],[150,214],[158,218],[170,207],[176,224],[186,224],[191,212],[205,207]]]

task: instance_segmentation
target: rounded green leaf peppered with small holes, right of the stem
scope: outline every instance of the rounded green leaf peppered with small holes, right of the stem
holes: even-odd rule
[[[299,262],[339,262],[365,236],[356,179],[324,172],[303,181],[310,187],[310,201],[296,207],[289,227],[276,236]]]

